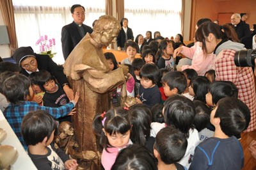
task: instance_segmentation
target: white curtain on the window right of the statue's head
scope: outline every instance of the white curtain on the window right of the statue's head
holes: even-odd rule
[[[182,0],[125,0],[124,8],[134,38],[146,31],[160,31],[164,38],[181,33]]]

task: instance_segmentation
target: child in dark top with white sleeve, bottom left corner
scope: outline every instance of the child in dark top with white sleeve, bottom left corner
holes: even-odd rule
[[[37,169],[76,169],[77,162],[51,145],[56,121],[47,111],[33,111],[24,116],[21,133],[28,145],[28,155]]]

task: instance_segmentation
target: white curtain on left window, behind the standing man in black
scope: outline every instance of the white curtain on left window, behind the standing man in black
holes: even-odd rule
[[[56,55],[52,59],[63,64],[61,28],[73,21],[70,12],[73,4],[84,6],[84,24],[90,27],[95,19],[105,15],[105,0],[93,0],[90,3],[84,0],[13,0],[18,46],[31,46],[35,52],[39,52],[36,41],[40,36],[55,38],[56,45],[53,50]]]

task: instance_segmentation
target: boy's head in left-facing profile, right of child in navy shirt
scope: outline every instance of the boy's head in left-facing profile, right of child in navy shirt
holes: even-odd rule
[[[182,72],[168,72],[162,78],[164,95],[170,97],[175,94],[184,93],[187,87],[187,80]]]

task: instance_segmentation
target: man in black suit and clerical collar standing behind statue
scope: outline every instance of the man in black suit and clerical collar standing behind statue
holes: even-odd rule
[[[62,27],[61,30],[62,52],[65,60],[84,35],[86,35],[86,33],[92,33],[92,27],[83,24],[84,7],[81,6],[81,4],[74,4],[70,11],[74,21]]]

